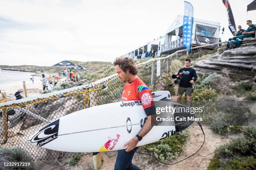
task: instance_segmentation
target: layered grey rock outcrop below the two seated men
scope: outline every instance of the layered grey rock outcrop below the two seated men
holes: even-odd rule
[[[252,79],[256,75],[256,38],[245,38],[240,47],[218,50],[214,55],[193,63],[197,72],[223,73],[230,77]]]

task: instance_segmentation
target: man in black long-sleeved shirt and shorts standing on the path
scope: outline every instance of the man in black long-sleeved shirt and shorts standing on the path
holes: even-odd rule
[[[197,72],[195,69],[190,67],[191,60],[187,58],[185,60],[184,67],[179,69],[179,72],[177,76],[182,76],[180,78],[179,88],[178,88],[178,97],[177,102],[180,102],[183,93],[185,92],[185,95],[187,96],[187,101],[191,101],[191,94],[192,94],[192,85],[197,80]],[[180,75],[180,73],[182,75]],[[192,79],[194,77],[194,79]],[[189,103],[188,103],[189,104]]]

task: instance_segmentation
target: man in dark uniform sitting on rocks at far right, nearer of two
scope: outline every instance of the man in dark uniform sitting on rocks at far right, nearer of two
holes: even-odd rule
[[[254,37],[255,36],[255,30],[256,30],[256,25],[252,24],[251,20],[247,20],[246,24],[249,26],[246,30],[246,32],[242,32],[241,37],[237,37],[236,41],[231,44],[233,48],[239,47],[241,45],[241,42],[243,38],[248,38],[248,37]]]

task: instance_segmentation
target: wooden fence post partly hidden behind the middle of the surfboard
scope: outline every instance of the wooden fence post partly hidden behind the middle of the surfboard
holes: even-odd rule
[[[90,107],[98,105],[98,91],[90,91]],[[101,153],[92,156],[93,158],[93,168],[99,170],[101,168]]]

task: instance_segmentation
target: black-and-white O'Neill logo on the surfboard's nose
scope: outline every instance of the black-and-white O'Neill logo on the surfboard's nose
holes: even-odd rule
[[[56,120],[39,130],[39,132],[31,139],[31,143],[37,143],[37,146],[43,146],[46,143],[58,138],[58,131],[59,120]]]

